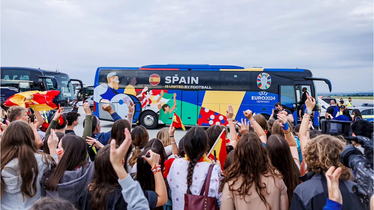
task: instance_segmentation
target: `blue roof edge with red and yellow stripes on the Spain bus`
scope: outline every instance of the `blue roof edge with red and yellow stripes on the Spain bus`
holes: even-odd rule
[[[305,69],[289,68],[244,68],[231,65],[208,65],[208,64],[167,64],[167,65],[146,65],[142,67],[99,67],[99,69],[122,69],[122,70],[202,70],[202,71],[293,71],[304,72]]]

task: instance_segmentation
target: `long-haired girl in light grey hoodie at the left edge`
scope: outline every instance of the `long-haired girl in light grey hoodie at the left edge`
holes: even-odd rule
[[[22,132],[20,132],[22,131]],[[38,151],[36,126],[17,120],[0,141],[0,209],[27,210],[42,196],[43,173],[57,162],[58,139],[48,139],[50,155]]]

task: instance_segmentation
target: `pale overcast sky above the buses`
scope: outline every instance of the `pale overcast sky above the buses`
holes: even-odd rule
[[[68,73],[211,64],[305,68],[374,89],[373,0],[0,0],[0,65]],[[318,92],[328,92],[318,82]]]

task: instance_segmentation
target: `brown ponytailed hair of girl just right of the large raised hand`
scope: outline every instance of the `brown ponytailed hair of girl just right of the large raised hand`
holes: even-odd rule
[[[133,149],[126,160],[127,173],[131,173],[132,167],[137,162],[140,152],[143,151],[144,146],[147,145],[149,140],[148,131],[144,126],[134,127],[134,129],[131,131],[131,138]]]

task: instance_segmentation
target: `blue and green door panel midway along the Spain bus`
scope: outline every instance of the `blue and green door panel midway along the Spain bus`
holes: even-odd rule
[[[181,120],[184,125],[196,125],[197,115],[197,90],[182,90]]]

